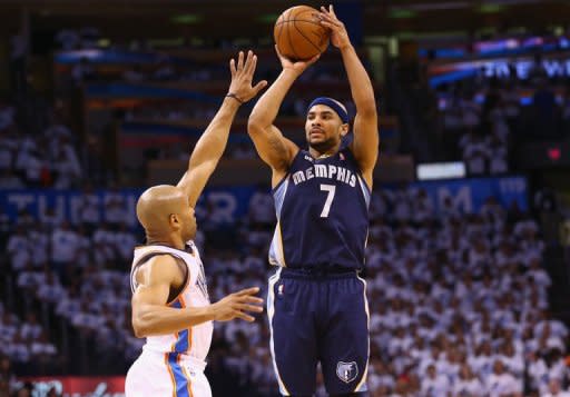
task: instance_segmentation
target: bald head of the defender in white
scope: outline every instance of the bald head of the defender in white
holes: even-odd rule
[[[137,202],[137,218],[147,235],[168,235],[176,227],[173,221],[184,222],[188,216],[194,218],[184,191],[170,185],[154,186],[142,195]],[[171,216],[176,219],[173,220]],[[195,230],[195,227],[194,227]]]

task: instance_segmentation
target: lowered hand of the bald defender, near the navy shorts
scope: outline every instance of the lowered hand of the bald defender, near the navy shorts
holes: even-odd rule
[[[263,304],[263,299],[255,297],[255,294],[257,292],[259,292],[258,287],[242,289],[240,291],[230,294],[224,299],[213,304],[212,309],[214,310],[214,320],[229,321],[234,318],[240,318],[248,322],[254,321],[255,318],[247,315],[245,311],[263,311],[263,307],[258,306]]]

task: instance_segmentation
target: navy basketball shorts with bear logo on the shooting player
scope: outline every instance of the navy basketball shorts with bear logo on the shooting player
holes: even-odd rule
[[[269,278],[267,316],[282,395],[313,395],[317,363],[328,394],[367,390],[368,304],[356,271],[279,268]]]

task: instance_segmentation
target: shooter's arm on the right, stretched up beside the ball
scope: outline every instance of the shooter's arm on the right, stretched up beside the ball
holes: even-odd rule
[[[379,127],[374,89],[368,73],[351,43],[344,23],[336,18],[333,6],[321,7],[321,24],[331,29],[331,42],[341,50],[344,68],[348,76],[352,98],[356,106],[352,151],[364,179],[372,187],[372,171],[379,156]]]

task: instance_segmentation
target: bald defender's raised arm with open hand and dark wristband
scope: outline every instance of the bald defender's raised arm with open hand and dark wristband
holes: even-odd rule
[[[232,72],[229,91],[218,112],[196,143],[188,161],[188,170],[178,182],[178,187],[188,196],[191,207],[196,206],[196,201],[226,148],[229,128],[237,109],[242,103],[257,96],[267,85],[267,81],[263,80],[252,86],[257,57],[248,51],[247,58],[245,60],[244,58],[244,53],[240,51],[237,62],[234,59],[229,61]]]

